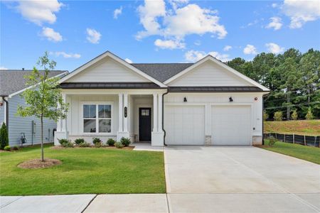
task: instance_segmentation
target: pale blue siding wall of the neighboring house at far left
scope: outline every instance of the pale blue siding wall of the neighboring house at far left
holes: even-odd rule
[[[36,133],[33,136],[33,144],[41,143],[41,121],[33,116],[21,117],[16,115],[18,105],[26,106],[25,101],[20,94],[9,98],[9,144],[18,146],[21,143],[21,133],[26,134],[27,143],[32,142],[32,121],[36,122]],[[1,107],[1,114],[4,107]],[[50,119],[43,119],[43,141],[45,143],[53,142],[53,129],[56,129],[56,123]]]

